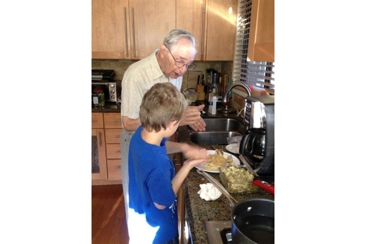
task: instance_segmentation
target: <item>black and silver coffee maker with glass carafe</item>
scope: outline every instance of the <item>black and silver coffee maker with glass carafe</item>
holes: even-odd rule
[[[275,96],[246,97],[239,153],[260,176],[275,175]]]

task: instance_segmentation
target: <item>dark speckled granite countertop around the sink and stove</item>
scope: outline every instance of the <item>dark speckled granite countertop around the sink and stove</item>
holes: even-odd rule
[[[218,104],[220,108],[220,103]],[[211,115],[208,113],[208,104],[205,102],[205,114],[202,115],[203,119],[209,118],[236,118],[236,114],[224,115],[220,113],[216,113],[216,115]],[[179,142],[185,142],[191,145],[197,145],[191,142],[189,137],[189,132],[187,126],[178,127],[178,140]],[[242,132],[242,131],[241,131]],[[201,146],[206,148],[207,150],[213,150],[211,146]],[[215,146],[216,149],[222,149],[223,151],[228,152],[225,149],[225,145]],[[236,157],[239,157],[239,154],[233,154]],[[180,154],[180,160],[183,164],[184,159],[183,155]],[[216,180],[220,182],[218,173],[209,173]],[[231,221],[231,206],[229,200],[221,195],[220,198],[214,201],[206,201],[199,197],[197,192],[200,187],[199,184],[209,183],[209,181],[203,177],[201,174],[197,173],[197,169],[193,168],[184,180],[184,190],[186,196],[186,209],[188,214],[188,221],[190,225],[191,236],[194,244],[204,244],[208,243],[206,238],[205,227],[203,225],[204,221]],[[269,192],[264,191],[259,188],[258,192],[255,193],[233,193],[231,194],[238,202],[247,198],[268,198],[275,199],[275,196],[270,194]]]

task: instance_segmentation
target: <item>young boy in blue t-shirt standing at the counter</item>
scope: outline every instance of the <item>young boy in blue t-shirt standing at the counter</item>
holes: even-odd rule
[[[143,96],[141,126],[128,152],[128,232],[131,243],[178,243],[176,195],[189,171],[206,161],[206,150],[165,141],[182,120],[187,104],[171,83],[157,83]],[[175,175],[168,153],[188,158]]]

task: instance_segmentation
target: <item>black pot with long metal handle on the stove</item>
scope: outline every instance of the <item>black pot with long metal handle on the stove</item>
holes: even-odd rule
[[[197,169],[217,187],[233,206],[231,210],[231,237],[233,243],[275,243],[275,201],[265,198],[249,198],[236,201],[212,176]]]

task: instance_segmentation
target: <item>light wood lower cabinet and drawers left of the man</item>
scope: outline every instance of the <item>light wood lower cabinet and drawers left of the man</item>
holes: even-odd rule
[[[91,184],[122,184],[121,114],[91,113],[91,121]]]

